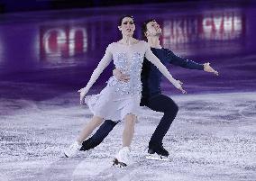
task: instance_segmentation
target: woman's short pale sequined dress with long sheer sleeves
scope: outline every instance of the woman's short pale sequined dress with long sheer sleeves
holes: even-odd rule
[[[105,67],[114,60],[115,68],[122,71],[123,74],[130,77],[125,83],[117,80],[114,76],[107,81],[105,88],[97,95],[87,95],[85,103],[90,111],[105,120],[119,121],[123,120],[128,113],[139,114],[141,102],[141,71],[144,56],[149,59],[160,72],[176,87],[180,87],[178,82],[171,77],[167,68],[151,52],[149,44],[145,41],[139,41],[133,45],[124,45],[119,42],[113,42],[105,50],[105,56],[99,62],[87,88],[89,89],[102,73]]]

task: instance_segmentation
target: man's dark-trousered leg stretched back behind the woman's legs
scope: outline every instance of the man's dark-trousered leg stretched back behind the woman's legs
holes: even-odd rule
[[[85,151],[88,149],[94,149],[105,139],[108,133],[113,130],[117,123],[118,122],[113,122],[111,120],[105,120],[92,137],[83,141],[82,148],[80,150]]]

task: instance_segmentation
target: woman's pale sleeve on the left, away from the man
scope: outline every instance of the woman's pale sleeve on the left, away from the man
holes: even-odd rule
[[[90,80],[88,81],[87,86],[85,87],[86,92],[91,88],[91,86],[93,86],[93,84],[96,82],[96,79],[100,76],[100,74],[103,72],[103,70],[111,62],[112,53],[111,53],[109,47],[110,47],[110,45],[106,48],[104,57],[100,60],[96,69],[94,70],[92,76],[90,77]]]

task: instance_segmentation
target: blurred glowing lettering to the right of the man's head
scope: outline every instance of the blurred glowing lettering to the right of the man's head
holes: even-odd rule
[[[233,41],[242,36],[240,12],[180,16],[163,22],[164,46],[194,41]]]

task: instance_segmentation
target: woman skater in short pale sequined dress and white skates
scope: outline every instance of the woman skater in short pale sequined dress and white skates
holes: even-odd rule
[[[118,122],[124,119],[123,148],[120,149],[115,158],[114,164],[127,166],[129,164],[130,145],[133,139],[134,123],[139,113],[142,82],[141,71],[142,61],[146,57],[160,72],[169,79],[182,93],[186,93],[181,87],[181,82],[174,79],[167,68],[151,52],[150,45],[145,41],[138,41],[133,38],[135,24],[133,16],[125,15],[120,19],[118,29],[122,32],[123,38],[120,41],[108,45],[105,56],[94,70],[87,86],[80,89],[80,103],[87,103],[89,109],[94,114],[92,120],[80,132],[76,140],[69,149],[65,151],[65,156],[74,155],[81,148],[82,142],[99,126],[104,120]],[[120,69],[125,75],[130,77],[128,82],[110,77],[107,86],[98,95],[87,95],[90,87],[96,82],[103,70],[114,59],[115,68]]]

